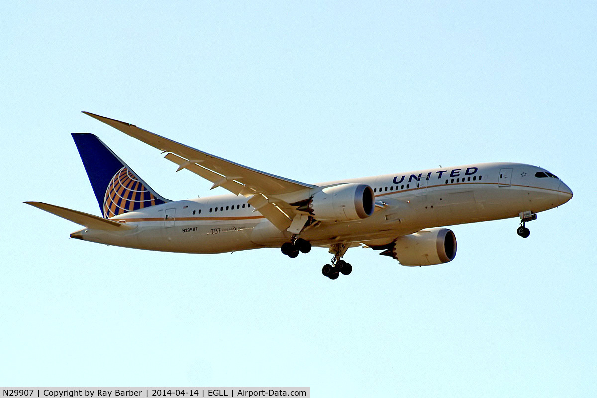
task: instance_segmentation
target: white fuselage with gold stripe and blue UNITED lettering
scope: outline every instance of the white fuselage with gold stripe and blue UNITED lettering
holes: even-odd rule
[[[375,192],[376,211],[358,221],[313,223],[300,236],[314,246],[384,245],[421,229],[519,217],[522,212],[538,213],[570,200],[571,190],[559,178],[539,178],[537,172],[546,170],[524,163],[478,163],[317,184],[368,184]],[[179,200],[111,220],[136,228],[122,232],[83,229],[72,236],[107,245],[186,253],[279,247],[291,237],[249,207],[247,198],[236,195]]]

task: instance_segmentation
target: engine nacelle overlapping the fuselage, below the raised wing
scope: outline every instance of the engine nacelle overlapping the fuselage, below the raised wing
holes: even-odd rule
[[[313,195],[310,209],[317,220],[360,220],[373,214],[375,195],[367,184],[334,185]]]

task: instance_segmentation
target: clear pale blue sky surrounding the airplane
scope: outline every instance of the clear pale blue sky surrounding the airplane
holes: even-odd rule
[[[8,2],[0,15],[0,385],[310,386],[316,397],[595,396],[595,2]],[[473,162],[574,191],[453,227],[402,267],[350,249],[164,254],[67,239],[100,214],[70,132],[161,195],[211,183],[79,113],[315,183]]]

